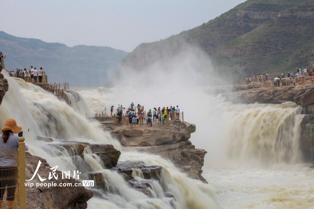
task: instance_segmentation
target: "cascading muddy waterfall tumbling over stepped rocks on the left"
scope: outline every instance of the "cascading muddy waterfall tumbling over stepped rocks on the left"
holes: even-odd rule
[[[26,83],[19,78],[8,79],[9,91],[0,106],[0,126],[7,118],[14,118],[23,127],[25,141],[30,146],[30,153],[45,158],[52,166],[60,170],[77,170],[84,173],[101,173],[106,181],[106,192],[92,189],[97,197],[88,201],[89,208],[132,208],[132,209],[208,209],[220,208],[210,185],[192,180],[181,173],[175,165],[159,156],[132,153],[147,165],[163,166],[162,182],[151,182],[153,197],[131,188],[123,177],[115,171],[104,169],[100,158],[84,148],[84,157],[77,155],[73,148],[68,151],[62,146],[51,146],[63,142],[89,142],[112,144],[121,150],[120,143],[102,130],[97,121],[89,121],[55,95]],[[73,105],[77,105],[74,104]],[[50,137],[52,143],[37,140],[37,136]],[[122,152],[123,153],[123,152]],[[125,155],[122,156],[127,156]],[[145,157],[146,156],[146,157]],[[123,157],[122,157],[123,159]],[[129,160],[130,160],[129,159]],[[136,171],[135,171],[136,172]],[[82,172],[83,173],[83,172]],[[140,178],[141,176],[139,176]],[[86,178],[83,175],[83,179]],[[163,192],[161,192],[161,188]],[[175,200],[161,193],[171,193]]]

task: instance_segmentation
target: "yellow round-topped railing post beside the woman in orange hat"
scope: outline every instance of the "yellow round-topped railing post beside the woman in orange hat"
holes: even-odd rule
[[[19,206],[26,209],[25,138],[19,137]]]

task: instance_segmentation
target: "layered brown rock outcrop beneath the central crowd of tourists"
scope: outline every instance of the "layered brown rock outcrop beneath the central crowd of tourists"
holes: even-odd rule
[[[188,140],[196,126],[183,121],[169,121],[169,126],[128,126],[103,124],[104,129],[116,137],[126,151],[140,151],[160,155],[170,159],[191,178],[206,181],[202,177],[202,166],[207,153],[203,149],[196,149]]]

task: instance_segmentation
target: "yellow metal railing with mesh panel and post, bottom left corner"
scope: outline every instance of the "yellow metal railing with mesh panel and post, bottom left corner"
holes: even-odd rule
[[[19,149],[1,149],[0,152],[1,208],[26,209],[24,137],[19,138]]]

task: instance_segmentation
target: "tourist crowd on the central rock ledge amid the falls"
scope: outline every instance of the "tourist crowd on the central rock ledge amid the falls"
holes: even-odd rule
[[[142,106],[140,104],[138,104],[136,106],[137,110],[135,110],[135,104],[132,102],[130,105],[130,108],[128,108],[124,115],[126,118],[126,123],[128,123],[130,125],[130,128],[135,128],[136,125],[143,125],[144,124],[144,119],[146,119],[146,124],[148,127],[152,126],[152,121],[156,121],[156,123],[158,125],[165,125],[165,120],[167,119],[167,117],[169,117],[171,120],[179,120],[180,119],[180,108],[178,107],[178,105],[175,106],[170,106],[169,107],[163,107],[162,109],[160,109],[160,107],[157,108],[153,108],[153,110],[149,109],[149,111],[146,113],[145,115],[145,111],[142,110]],[[123,108],[122,105],[118,105],[117,109],[116,109],[116,117],[118,120],[118,124],[122,125],[122,115],[123,115],[123,111],[125,108]],[[111,116],[113,114],[114,111],[114,106],[111,106],[110,108],[110,112],[111,112]]]

